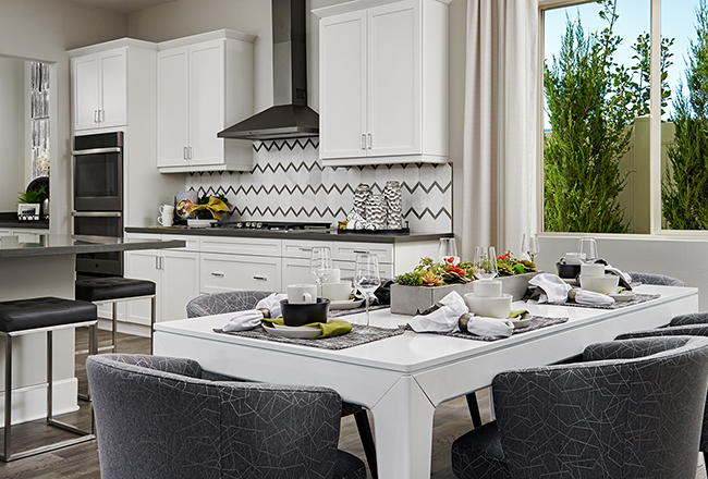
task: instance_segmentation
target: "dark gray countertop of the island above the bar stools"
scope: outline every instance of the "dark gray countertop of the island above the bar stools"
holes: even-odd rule
[[[152,241],[70,234],[40,234],[37,243],[19,242],[17,236],[0,235],[0,258],[163,249],[185,246],[185,243],[180,240]]]

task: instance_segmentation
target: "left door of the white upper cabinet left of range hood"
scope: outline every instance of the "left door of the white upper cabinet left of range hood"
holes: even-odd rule
[[[158,52],[157,165],[187,164],[190,76],[186,47]]]

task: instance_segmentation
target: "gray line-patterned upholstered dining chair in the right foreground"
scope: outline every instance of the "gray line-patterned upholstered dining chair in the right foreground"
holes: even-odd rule
[[[452,446],[457,478],[693,478],[708,339],[589,345],[583,363],[502,372],[497,420]]]

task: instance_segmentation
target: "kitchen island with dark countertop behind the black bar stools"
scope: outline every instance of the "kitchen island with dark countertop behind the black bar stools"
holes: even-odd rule
[[[183,241],[149,241],[56,234],[0,235],[0,300],[56,296],[74,298],[76,255],[176,248]],[[4,340],[0,340],[0,371],[4,371]],[[41,418],[46,412],[46,341],[44,334],[19,336],[13,342],[13,422]],[[74,331],[54,333],[54,412],[75,410]],[[4,383],[4,373],[0,384]],[[0,405],[0,412],[4,406]]]

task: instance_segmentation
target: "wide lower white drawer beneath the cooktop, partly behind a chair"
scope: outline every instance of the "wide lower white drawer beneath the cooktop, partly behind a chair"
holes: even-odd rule
[[[280,258],[203,253],[202,293],[280,291]]]

